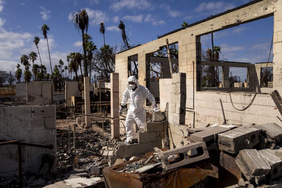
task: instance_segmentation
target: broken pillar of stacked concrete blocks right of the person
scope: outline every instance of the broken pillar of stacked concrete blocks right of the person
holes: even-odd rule
[[[184,124],[186,114],[186,73],[172,74],[169,95],[168,121],[172,124]]]

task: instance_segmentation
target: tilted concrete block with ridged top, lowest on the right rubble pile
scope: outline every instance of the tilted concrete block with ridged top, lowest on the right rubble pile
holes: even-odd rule
[[[266,179],[266,174],[271,170],[268,162],[255,149],[241,150],[235,159],[241,172],[249,181],[259,181]]]

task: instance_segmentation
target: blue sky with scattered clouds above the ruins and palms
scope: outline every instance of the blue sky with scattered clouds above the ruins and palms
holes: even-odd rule
[[[0,70],[14,71],[22,54],[37,53],[34,36],[41,38],[39,52],[42,63],[50,72],[48,48],[40,30],[50,27],[48,42],[52,66],[66,55],[80,51],[81,36],[70,21],[70,15],[86,9],[89,15],[88,33],[98,47],[103,45],[99,23],[106,26],[105,41],[120,45],[119,21],[125,28],[131,44],[143,44],[174,29],[207,18],[249,2],[230,1],[168,1],[168,0],[0,0]],[[265,62],[268,58],[273,32],[273,17],[214,33],[214,45],[221,46],[221,58],[229,61]],[[201,37],[202,48],[211,44],[210,35]],[[272,55],[271,55],[272,61]],[[40,64],[39,58],[36,61]],[[23,69],[23,67],[21,66]]]

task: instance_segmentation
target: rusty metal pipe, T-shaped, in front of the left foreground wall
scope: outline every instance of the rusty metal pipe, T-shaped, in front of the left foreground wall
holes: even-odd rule
[[[0,145],[9,145],[9,144],[16,144],[18,145],[18,178],[19,178],[19,188],[22,187],[22,157],[21,157],[21,146],[31,146],[31,147],[42,147],[42,148],[49,148],[50,150],[53,149],[53,145],[38,145],[38,144],[29,144],[29,143],[23,143],[19,142],[18,140],[11,140],[11,141],[5,141],[0,142]]]

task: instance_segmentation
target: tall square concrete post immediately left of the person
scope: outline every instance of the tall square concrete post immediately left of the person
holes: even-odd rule
[[[111,73],[111,117],[119,118],[119,79],[118,73]],[[120,138],[119,120],[111,120],[111,138]]]

